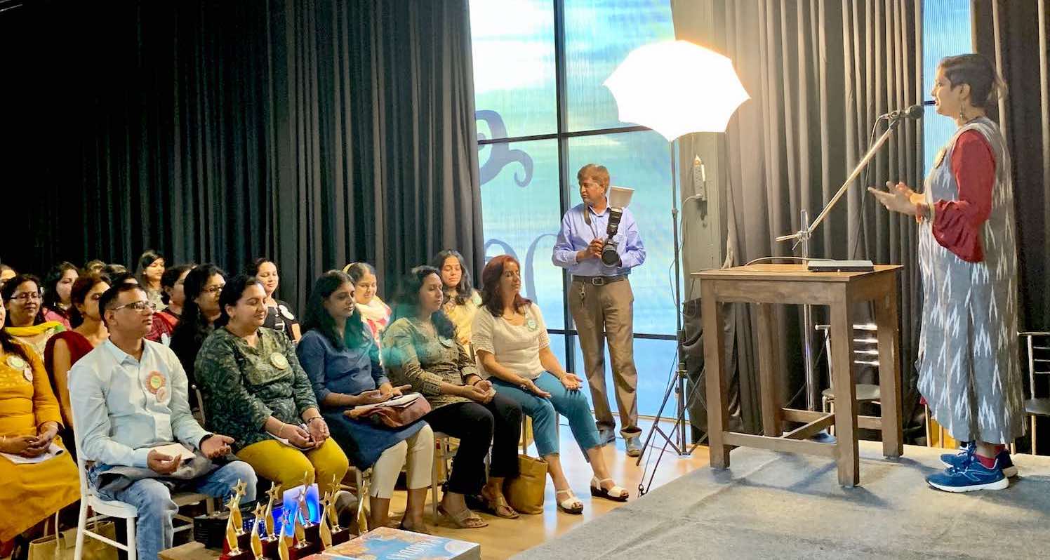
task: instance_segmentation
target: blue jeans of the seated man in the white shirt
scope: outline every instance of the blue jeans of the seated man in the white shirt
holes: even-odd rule
[[[255,499],[255,471],[245,461],[232,461],[193,480],[180,480],[176,492],[197,492],[225,501],[233,493],[237,480],[247,488],[243,502]],[[173,479],[167,479],[173,481]],[[135,549],[139,558],[156,558],[161,551],[170,548],[175,535],[172,524],[178,506],[171,501],[171,491],[155,478],[136,480],[130,486],[114,493],[99,493],[103,499],[114,499],[134,505],[139,510],[135,520]]]

